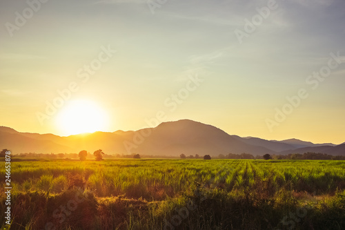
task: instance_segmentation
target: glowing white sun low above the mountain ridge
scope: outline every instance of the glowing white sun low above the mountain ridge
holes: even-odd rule
[[[95,102],[74,100],[63,106],[57,115],[57,126],[64,135],[105,131],[108,116]]]

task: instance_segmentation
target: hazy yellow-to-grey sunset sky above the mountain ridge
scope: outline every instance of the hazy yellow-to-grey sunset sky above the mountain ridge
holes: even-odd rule
[[[344,10],[343,0],[3,0],[0,125],[70,135],[193,119],[341,144]]]

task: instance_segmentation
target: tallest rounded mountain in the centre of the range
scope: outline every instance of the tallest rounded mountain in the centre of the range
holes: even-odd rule
[[[141,132],[141,131],[139,131]],[[164,122],[152,129],[143,144],[133,150],[152,155],[219,155],[228,153],[273,154],[263,146],[246,144],[215,126],[188,119]]]

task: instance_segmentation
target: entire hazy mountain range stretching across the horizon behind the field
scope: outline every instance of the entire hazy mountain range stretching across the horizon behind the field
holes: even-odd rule
[[[149,134],[149,135],[148,135]],[[345,145],[344,145],[345,146]],[[95,132],[60,137],[53,134],[19,133],[0,126],[0,148],[15,153],[79,153],[101,148],[107,154],[206,155],[250,153],[253,155],[304,153],[344,155],[344,146],[326,146],[291,139],[268,141],[257,137],[229,135],[220,128],[189,119],[164,122],[139,131]]]

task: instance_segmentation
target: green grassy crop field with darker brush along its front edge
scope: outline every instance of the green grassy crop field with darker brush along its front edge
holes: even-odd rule
[[[11,182],[11,229],[345,229],[344,161],[23,161]]]

